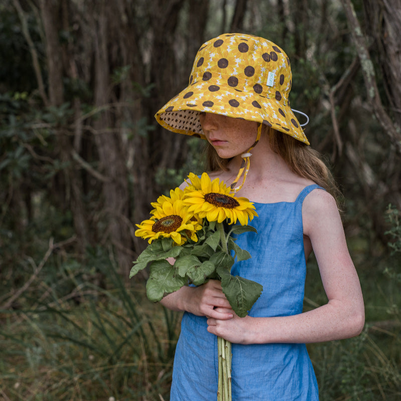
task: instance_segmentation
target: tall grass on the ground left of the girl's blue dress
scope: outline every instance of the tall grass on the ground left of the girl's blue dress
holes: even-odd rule
[[[141,285],[126,288],[113,263],[97,259],[107,288],[82,285],[76,269],[67,272],[74,297],[54,286],[32,298],[36,288],[21,309],[1,311],[0,399],[168,399],[179,315],[150,304]]]

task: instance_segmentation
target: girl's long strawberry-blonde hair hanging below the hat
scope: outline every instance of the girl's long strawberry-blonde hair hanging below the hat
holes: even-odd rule
[[[264,128],[265,132],[262,132],[262,134],[269,135],[271,149],[284,159],[290,170],[326,189],[333,195],[340,209],[341,192],[320,153],[290,135],[266,125],[263,127],[266,128]],[[227,170],[227,165],[231,159],[221,158],[209,142],[207,142],[205,154],[205,167],[208,171]]]

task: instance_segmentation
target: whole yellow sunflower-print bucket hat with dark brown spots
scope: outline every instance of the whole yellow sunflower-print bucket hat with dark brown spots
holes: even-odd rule
[[[223,114],[266,124],[309,145],[288,102],[291,79],[289,59],[273,42],[223,34],[200,47],[188,86],[155,118],[170,131],[206,139],[199,112]]]

